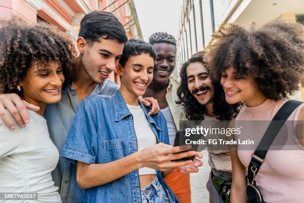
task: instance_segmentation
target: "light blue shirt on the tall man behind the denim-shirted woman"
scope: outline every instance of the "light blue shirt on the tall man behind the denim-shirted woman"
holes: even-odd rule
[[[96,85],[91,95],[113,95],[118,86],[111,80],[105,80],[102,85]],[[48,104],[44,117],[47,120],[50,137],[59,151],[61,151],[68,132],[72,126],[74,116],[79,106],[77,91],[72,85],[62,90],[61,101]],[[76,183],[76,167],[64,157],[59,158],[55,170],[52,172],[55,186],[63,203],[83,203],[80,200],[83,190]]]

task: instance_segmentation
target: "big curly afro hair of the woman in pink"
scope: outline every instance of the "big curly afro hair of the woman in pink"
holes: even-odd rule
[[[280,100],[299,90],[304,73],[304,26],[273,21],[246,30],[223,24],[213,34],[204,57],[215,80],[229,67],[252,76],[263,95]]]

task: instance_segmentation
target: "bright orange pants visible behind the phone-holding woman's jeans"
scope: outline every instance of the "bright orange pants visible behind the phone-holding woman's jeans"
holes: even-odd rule
[[[174,169],[165,181],[181,203],[191,203],[190,176]]]

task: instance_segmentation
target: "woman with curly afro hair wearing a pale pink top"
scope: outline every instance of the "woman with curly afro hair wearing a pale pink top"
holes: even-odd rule
[[[304,27],[274,21],[246,30],[225,24],[214,34],[205,56],[213,77],[221,80],[228,103],[244,102],[237,121],[272,120],[299,89],[304,73]],[[304,120],[301,104],[287,120]],[[295,122],[297,123],[297,122]],[[262,138],[267,125],[247,130],[246,137]],[[240,135],[242,136],[242,135]],[[303,140],[298,150],[269,150],[256,175],[256,186],[267,203],[300,203],[304,199]],[[246,202],[246,167],[255,149],[231,151],[231,202]]]

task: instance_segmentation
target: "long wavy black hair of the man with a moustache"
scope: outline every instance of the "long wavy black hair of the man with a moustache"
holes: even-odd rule
[[[183,110],[186,113],[186,117],[189,120],[204,120],[206,115],[206,106],[200,104],[195,97],[188,90],[187,84],[187,67],[191,63],[200,62],[205,67],[206,64],[203,61],[204,52],[200,51],[191,56],[186,61],[180,71],[181,83],[177,89],[178,101],[177,104],[183,106]],[[213,81],[214,86],[214,97],[213,97],[213,114],[216,119],[219,120],[231,120],[234,118],[242,107],[242,103],[229,104],[225,100],[225,92],[220,81]]]

